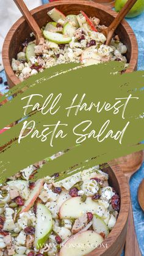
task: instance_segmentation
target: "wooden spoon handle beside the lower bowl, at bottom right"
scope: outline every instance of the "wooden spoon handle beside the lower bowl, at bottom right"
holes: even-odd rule
[[[129,207],[129,219],[128,219],[128,230],[126,234],[126,244],[125,244],[125,253],[124,256],[142,256],[139,244],[137,242],[137,236],[134,229],[134,218],[132,214],[132,205],[130,202]]]

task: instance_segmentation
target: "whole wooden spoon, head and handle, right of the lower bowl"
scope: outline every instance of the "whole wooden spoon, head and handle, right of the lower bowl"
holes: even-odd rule
[[[123,170],[124,175],[126,176],[129,184],[129,180],[132,175],[137,172],[143,162],[143,151],[132,153],[128,156],[123,156],[112,161],[112,164],[117,163]],[[112,165],[111,164],[111,165]],[[139,249],[139,244],[137,242],[137,236],[134,229],[134,219],[132,214],[132,205],[130,202],[129,207],[129,219],[128,219],[128,230],[126,235],[126,244],[125,244],[125,256],[141,256]]]

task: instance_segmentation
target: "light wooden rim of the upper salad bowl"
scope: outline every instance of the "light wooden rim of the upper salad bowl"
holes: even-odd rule
[[[68,4],[79,4],[79,5],[85,5],[85,6],[91,6],[91,7],[96,7],[98,9],[104,10],[105,12],[109,13],[113,17],[117,16],[117,13],[111,10],[109,7],[106,5],[101,5],[96,2],[90,2],[90,1],[76,1],[76,0],[63,0],[63,1],[56,1],[56,2],[51,2],[49,4],[41,5],[40,7],[35,8],[34,10],[31,11],[31,13],[34,15],[34,13],[40,12],[43,9],[47,8],[52,8],[52,7],[57,7],[59,9],[60,5],[68,5]],[[7,75],[8,81],[10,82],[10,86],[15,86],[16,84],[20,83],[20,79],[18,79],[15,76],[15,73],[12,70],[10,59],[9,59],[9,52],[10,52],[10,42],[12,40],[14,32],[18,29],[18,27],[24,22],[24,18],[21,17],[18,21],[16,21],[15,24],[13,24],[12,28],[8,32],[3,49],[2,49],[2,60],[5,68],[5,73]],[[127,68],[126,72],[132,72],[136,70],[137,68],[137,59],[138,59],[138,46],[137,46],[137,40],[135,38],[134,32],[132,31],[131,27],[129,24],[123,20],[122,23],[123,27],[126,29],[126,32],[129,35],[129,38],[131,40],[131,59],[129,61],[129,67]]]

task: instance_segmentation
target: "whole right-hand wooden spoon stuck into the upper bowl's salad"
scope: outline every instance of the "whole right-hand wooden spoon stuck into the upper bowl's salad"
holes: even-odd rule
[[[110,42],[112,41],[113,33],[115,32],[115,29],[117,29],[117,26],[121,23],[123,18],[126,16],[126,14],[131,10],[132,6],[137,2],[137,0],[128,0],[126,4],[124,4],[121,11],[118,13],[118,15],[115,17],[115,19],[112,21],[109,27],[106,29],[103,29],[103,34],[106,36],[106,45],[110,45]]]

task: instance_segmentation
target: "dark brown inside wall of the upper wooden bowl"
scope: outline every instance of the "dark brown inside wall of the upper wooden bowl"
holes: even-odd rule
[[[59,9],[61,12],[63,12],[65,15],[68,14],[78,14],[79,10],[83,10],[85,13],[87,13],[88,16],[96,16],[101,21],[101,24],[104,24],[106,26],[109,26],[110,23],[112,23],[113,16],[110,15],[110,13],[107,13],[104,9],[99,9],[98,7],[93,7],[90,5],[82,5],[82,4],[58,4],[57,2],[57,9]],[[45,9],[41,9],[38,12],[34,13],[34,18],[37,21],[38,25],[40,27],[45,26],[48,21],[51,21],[51,18],[47,15],[48,10],[52,9],[53,7],[47,7]],[[9,59],[10,62],[12,60],[12,57],[16,57],[16,54],[21,51],[22,46],[21,44],[28,38],[28,40],[31,40],[30,33],[31,28],[27,26],[26,21],[23,21],[23,23],[20,24],[18,29],[14,31],[12,40],[10,42],[9,47]],[[131,59],[131,40],[129,38],[128,32],[126,31],[123,24],[120,24],[115,31],[116,34],[119,35],[121,42],[123,42],[127,47],[128,51],[126,53],[126,58],[128,62]]]

